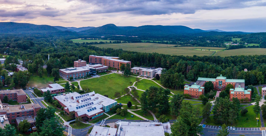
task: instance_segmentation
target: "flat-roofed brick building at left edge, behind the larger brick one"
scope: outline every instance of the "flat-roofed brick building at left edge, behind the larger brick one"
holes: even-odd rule
[[[0,91],[0,100],[7,96],[8,100],[16,100],[18,103],[26,103],[27,95],[22,89]]]

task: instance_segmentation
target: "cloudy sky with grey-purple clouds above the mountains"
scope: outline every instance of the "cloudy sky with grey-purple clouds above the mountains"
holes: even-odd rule
[[[0,22],[266,32],[266,0],[0,0]]]

